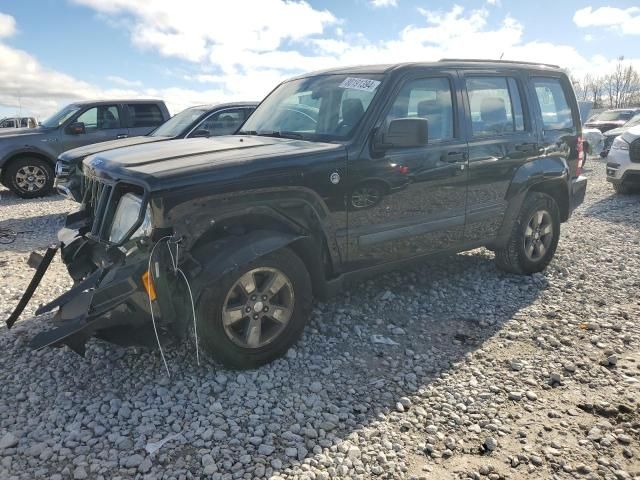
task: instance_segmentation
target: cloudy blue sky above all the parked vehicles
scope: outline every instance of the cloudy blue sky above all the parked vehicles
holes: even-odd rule
[[[67,103],[260,100],[343,65],[500,58],[578,78],[640,69],[640,3],[619,0],[0,0],[0,117]]]

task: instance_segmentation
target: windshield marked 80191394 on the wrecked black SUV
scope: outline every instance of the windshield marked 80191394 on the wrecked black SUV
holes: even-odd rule
[[[343,140],[364,117],[382,75],[318,75],[285,82],[249,117],[239,134]]]

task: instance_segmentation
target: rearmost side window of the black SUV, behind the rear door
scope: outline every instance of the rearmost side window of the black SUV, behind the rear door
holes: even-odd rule
[[[573,128],[573,115],[566,92],[559,78],[535,77],[531,80],[536,92],[545,130]]]

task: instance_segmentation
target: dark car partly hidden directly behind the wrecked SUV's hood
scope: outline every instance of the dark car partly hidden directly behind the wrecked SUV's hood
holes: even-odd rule
[[[148,135],[129,136],[68,150],[58,157],[55,187],[61,195],[80,202],[82,160],[88,155],[143,143],[230,135],[238,130],[257,105],[257,102],[235,102],[191,107],[174,115]]]

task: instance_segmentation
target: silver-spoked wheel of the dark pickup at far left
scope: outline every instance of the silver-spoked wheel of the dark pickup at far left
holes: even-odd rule
[[[19,197],[36,198],[51,192],[54,176],[53,168],[45,160],[22,157],[9,164],[4,180]]]

